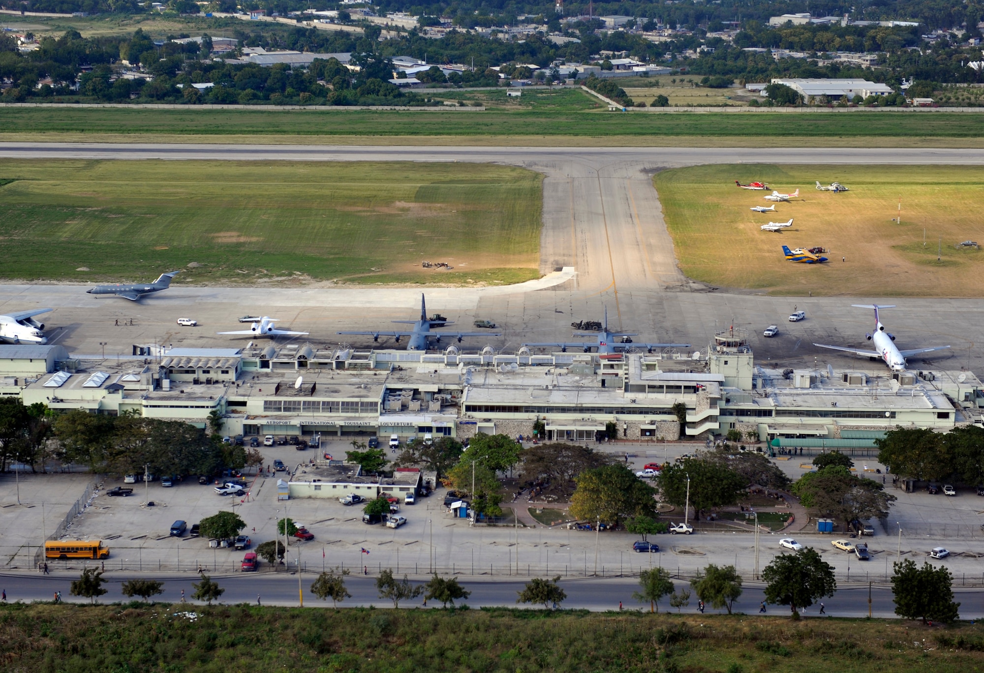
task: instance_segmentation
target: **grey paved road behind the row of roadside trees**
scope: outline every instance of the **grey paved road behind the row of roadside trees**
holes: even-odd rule
[[[62,599],[65,601],[81,601],[83,599],[72,596],[69,592],[71,581],[77,579],[76,575],[48,576],[40,577],[36,575],[4,574],[0,575],[0,584],[7,590],[9,601],[14,600],[51,600],[55,591],[62,592]],[[108,583],[105,588],[108,593],[100,598],[102,602],[112,602],[117,600],[129,600],[120,591],[120,583],[132,577],[142,577],[164,581],[164,593],[160,596],[162,600],[177,602],[184,589],[189,603],[196,603],[191,600],[194,589],[192,583],[198,581],[197,576],[135,576],[130,574],[107,573]],[[304,590],[304,605],[306,607],[331,606],[331,602],[322,602],[310,593],[309,586],[315,580],[315,574],[304,574],[301,578],[301,587]],[[257,575],[243,576],[215,576],[213,578],[220,586],[225,589],[221,602],[232,603],[254,603],[257,595],[260,596],[262,603],[267,605],[297,605],[297,576],[293,574],[267,575],[259,573]],[[426,581],[425,578],[418,578]],[[461,585],[471,595],[466,601],[472,607],[485,606],[504,606],[515,607],[517,592],[523,589],[523,580],[509,581],[474,581],[463,579]],[[561,586],[567,592],[567,600],[564,601],[565,608],[580,608],[593,611],[617,610],[619,601],[625,609],[648,609],[648,606],[641,606],[640,602],[632,597],[634,591],[639,589],[639,581],[629,578],[618,578],[609,580],[597,580],[588,578],[586,580],[561,581]],[[376,591],[375,579],[372,577],[350,577],[345,581],[348,591],[352,594],[351,598],[346,599],[342,605],[347,607],[375,605],[377,607],[392,607],[393,603],[388,600],[380,600]],[[685,588],[687,584],[677,582],[678,588]],[[984,617],[984,589],[957,589],[954,591],[956,600],[960,602],[960,617],[963,619],[980,619]],[[892,589],[887,586],[876,586],[872,588],[872,615],[875,617],[894,617],[894,604],[892,603]],[[747,584],[745,592],[735,603],[733,610],[736,612],[758,613],[760,603],[764,600],[763,588],[761,583],[756,582]],[[868,586],[865,585],[845,585],[841,587],[833,597],[824,599],[826,612],[830,616],[837,617],[866,617],[868,615]],[[418,606],[420,599],[410,603],[403,603],[404,607]],[[431,603],[433,606],[433,603]],[[664,599],[661,609],[669,609],[668,600]],[[778,605],[767,606],[769,614],[786,614],[787,608]],[[690,605],[684,609],[685,612],[697,612],[697,596],[692,595]],[[807,610],[807,616],[818,616],[819,606],[811,607]],[[707,607],[708,613],[724,612],[724,610],[713,610]]]

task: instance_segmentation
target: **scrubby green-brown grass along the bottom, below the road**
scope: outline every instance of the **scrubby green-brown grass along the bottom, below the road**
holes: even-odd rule
[[[743,615],[16,604],[0,607],[0,670],[944,673],[984,666],[982,633]]]

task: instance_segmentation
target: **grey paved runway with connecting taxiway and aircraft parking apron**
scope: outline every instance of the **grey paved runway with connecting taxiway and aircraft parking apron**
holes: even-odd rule
[[[702,163],[982,164],[984,150],[947,149],[716,149],[716,148],[420,148],[242,145],[0,144],[7,158],[219,159],[292,161],[483,161],[520,165],[545,175],[540,268],[553,274],[566,267],[574,276],[543,278],[532,287],[427,289],[428,308],[459,324],[475,318],[497,322],[503,337],[485,342],[512,349],[523,340],[569,338],[570,323],[600,319],[608,308],[611,327],[639,332],[646,340],[689,342],[702,348],[717,330],[748,328],[759,360],[784,366],[830,362],[861,371],[878,367],[866,359],[836,355],[812,342],[860,345],[870,329],[867,313],[851,303],[893,303],[885,316],[900,347],[951,344],[953,351],[910,362],[919,368],[981,370],[975,348],[984,324],[981,299],[892,299],[880,297],[770,297],[725,292],[694,283],[677,268],[658,195],[650,174],[661,168]],[[49,324],[56,342],[72,352],[128,353],[133,343],[175,342],[227,346],[220,329],[235,329],[244,314],[280,318],[292,329],[310,331],[314,343],[338,343],[338,330],[380,328],[391,319],[409,319],[419,308],[418,289],[307,287],[270,289],[176,286],[134,304],[95,300],[88,287],[0,286],[0,310],[51,306]],[[494,291],[492,291],[494,290]],[[530,290],[530,291],[526,291]],[[794,309],[807,320],[791,324]],[[178,331],[185,314],[203,328]],[[203,318],[207,320],[203,321]],[[120,321],[120,319],[123,319]],[[115,323],[133,320],[133,325]],[[778,338],[762,329],[782,326]],[[109,332],[107,333],[107,330]],[[637,339],[640,340],[640,339]],[[356,345],[368,345],[353,341]],[[381,339],[380,346],[387,344]]]

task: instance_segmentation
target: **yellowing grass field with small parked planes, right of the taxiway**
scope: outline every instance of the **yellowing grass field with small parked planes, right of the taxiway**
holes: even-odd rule
[[[798,188],[800,198],[753,213],[769,206],[770,192],[739,189],[735,180],[765,181],[784,194]],[[850,191],[820,192],[817,180]],[[956,244],[984,243],[982,167],[710,165],[663,171],[654,182],[677,260],[697,280],[780,295],[980,294],[984,253]],[[790,217],[781,233],[760,228]],[[830,262],[786,262],[783,244],[822,246]]]

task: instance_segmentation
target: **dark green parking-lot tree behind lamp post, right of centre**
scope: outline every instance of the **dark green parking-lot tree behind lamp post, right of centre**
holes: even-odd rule
[[[738,502],[748,481],[727,465],[709,459],[685,459],[667,465],[656,476],[663,500],[682,507],[687,503],[687,478],[690,477],[690,504],[700,519],[712,507]]]

